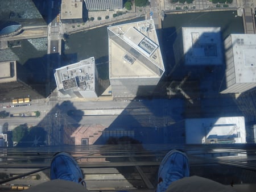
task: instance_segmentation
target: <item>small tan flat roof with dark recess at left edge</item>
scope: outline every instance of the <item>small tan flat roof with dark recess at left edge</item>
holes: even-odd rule
[[[16,80],[16,61],[0,62],[0,83]]]

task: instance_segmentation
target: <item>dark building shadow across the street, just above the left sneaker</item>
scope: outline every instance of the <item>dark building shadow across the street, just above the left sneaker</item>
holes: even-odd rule
[[[48,105],[50,103],[51,101]],[[41,112],[43,113],[43,111]],[[24,134],[16,147],[75,145],[75,140],[71,135],[80,126],[82,115],[83,112],[76,110],[70,101],[56,104],[36,126],[30,128],[27,124],[19,126],[22,127],[19,134],[20,131]],[[26,122],[26,118],[24,118],[24,122]]]

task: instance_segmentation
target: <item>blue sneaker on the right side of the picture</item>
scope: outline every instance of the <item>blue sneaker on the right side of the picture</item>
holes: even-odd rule
[[[156,191],[166,191],[172,182],[188,176],[189,163],[187,155],[174,149],[167,153],[159,166]]]

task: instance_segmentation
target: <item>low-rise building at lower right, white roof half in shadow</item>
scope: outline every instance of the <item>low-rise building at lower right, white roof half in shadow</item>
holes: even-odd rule
[[[232,144],[246,143],[245,118],[193,118],[175,123],[170,128],[171,143]]]

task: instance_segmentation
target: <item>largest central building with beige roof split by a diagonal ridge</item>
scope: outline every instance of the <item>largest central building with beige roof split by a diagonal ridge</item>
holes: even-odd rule
[[[164,73],[153,20],[108,27],[113,97],[149,96]]]

